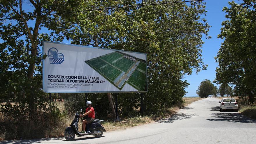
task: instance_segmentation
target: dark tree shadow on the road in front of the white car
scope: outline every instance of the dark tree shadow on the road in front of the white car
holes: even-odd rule
[[[206,119],[210,121],[228,121],[228,122],[242,122],[242,123],[256,123],[256,120],[247,118],[240,113],[211,113],[209,114],[213,119]]]

